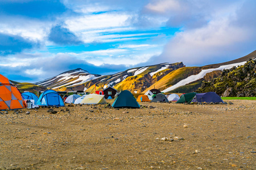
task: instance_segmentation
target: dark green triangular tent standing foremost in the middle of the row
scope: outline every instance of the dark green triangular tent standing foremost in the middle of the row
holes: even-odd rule
[[[113,108],[140,108],[140,105],[130,91],[122,91],[112,104]]]

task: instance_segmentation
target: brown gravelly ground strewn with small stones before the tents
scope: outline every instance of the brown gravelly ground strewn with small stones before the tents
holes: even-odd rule
[[[229,101],[1,111],[0,169],[255,169],[256,101]]]

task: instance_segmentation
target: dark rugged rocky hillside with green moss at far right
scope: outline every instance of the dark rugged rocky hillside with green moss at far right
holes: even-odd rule
[[[221,76],[210,82],[203,81],[196,92],[214,91],[220,96],[256,96],[256,61],[250,59],[245,65],[223,70]]]

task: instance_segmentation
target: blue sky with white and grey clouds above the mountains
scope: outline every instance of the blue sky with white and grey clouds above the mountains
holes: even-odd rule
[[[226,62],[256,49],[255,16],[255,0],[0,0],[0,74]]]

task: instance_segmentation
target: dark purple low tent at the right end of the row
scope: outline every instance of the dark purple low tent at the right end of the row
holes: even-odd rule
[[[220,96],[216,94],[216,92],[207,92],[204,94],[196,94],[195,97],[191,100],[191,103],[223,103],[223,100]]]

